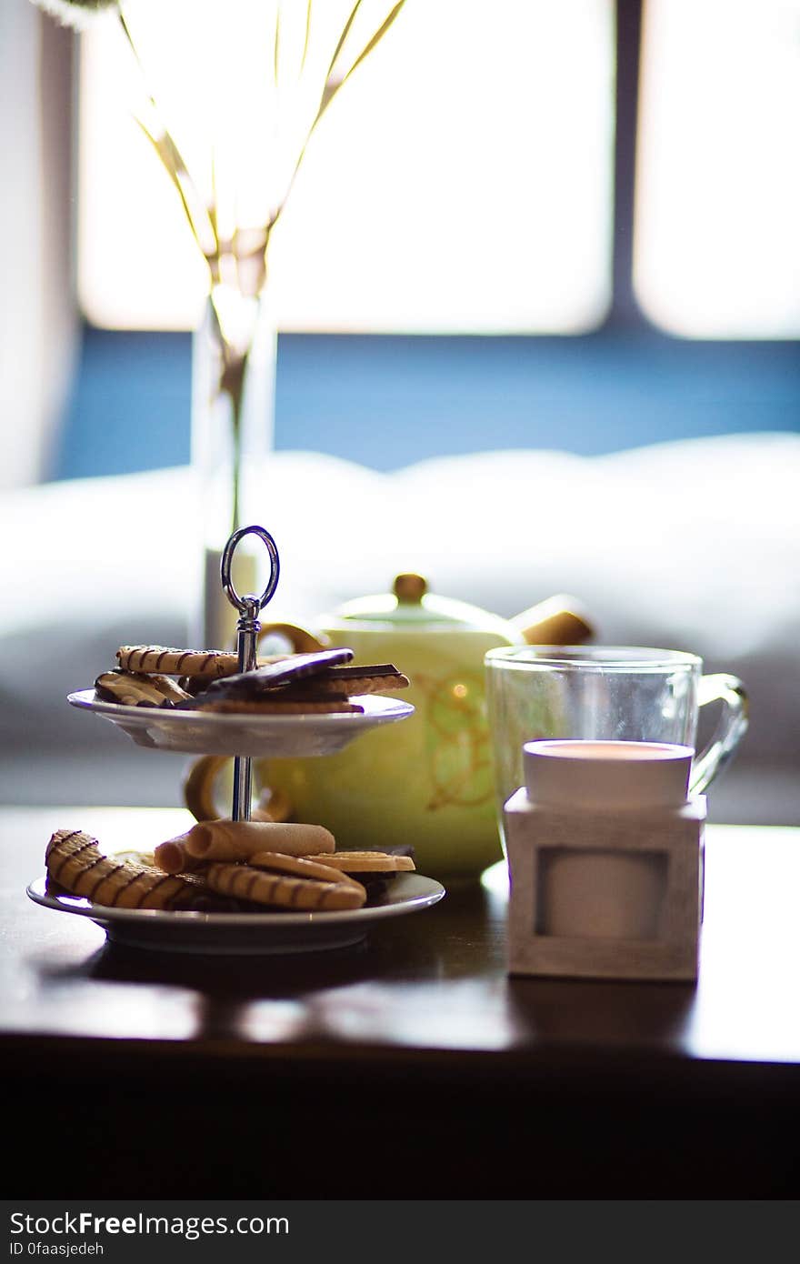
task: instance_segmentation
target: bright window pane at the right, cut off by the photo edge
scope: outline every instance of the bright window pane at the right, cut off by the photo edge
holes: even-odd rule
[[[672,334],[800,335],[800,3],[647,0],[634,291]]]

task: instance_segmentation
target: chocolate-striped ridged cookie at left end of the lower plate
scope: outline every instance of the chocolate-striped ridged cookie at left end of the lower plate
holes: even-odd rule
[[[44,858],[48,876],[59,886],[92,904],[119,909],[186,909],[205,889],[196,875],[164,873],[104,856],[97,839],[81,829],[57,829]]]

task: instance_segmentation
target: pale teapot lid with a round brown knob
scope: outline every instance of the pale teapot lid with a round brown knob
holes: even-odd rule
[[[394,578],[391,593],[345,602],[336,613],[342,619],[393,623],[406,628],[413,626],[430,628],[431,624],[439,624],[463,632],[502,629],[503,636],[507,636],[506,619],[483,611],[479,605],[431,594],[427,586],[427,580],[422,575],[404,573]]]

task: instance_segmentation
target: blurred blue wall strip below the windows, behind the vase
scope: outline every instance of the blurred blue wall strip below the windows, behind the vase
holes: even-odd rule
[[[191,339],[87,327],[52,477],[181,465]],[[396,469],[490,447],[595,454],[800,430],[797,343],[281,335],[276,446]]]

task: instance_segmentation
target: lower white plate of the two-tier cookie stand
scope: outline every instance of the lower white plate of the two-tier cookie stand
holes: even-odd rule
[[[398,873],[384,894],[364,909],[322,913],[166,913],[111,909],[78,895],[48,895],[47,878],[27,887],[35,904],[90,918],[114,943],[162,952],[264,954],[346,948],[367,937],[377,921],[427,909],[444,886],[422,873]]]

